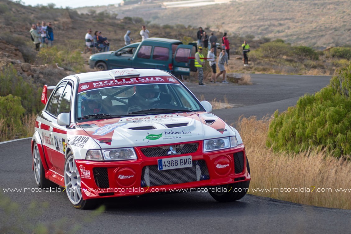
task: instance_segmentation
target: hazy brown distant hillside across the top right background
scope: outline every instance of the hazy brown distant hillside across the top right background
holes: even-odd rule
[[[119,18],[141,17],[151,24],[202,26],[313,47],[351,45],[350,0],[236,0],[193,7],[172,7],[167,2],[171,1],[140,1],[134,5],[77,11],[106,11],[117,13]]]

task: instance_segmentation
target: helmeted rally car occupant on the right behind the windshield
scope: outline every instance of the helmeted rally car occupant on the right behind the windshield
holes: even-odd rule
[[[137,85],[135,94],[128,99],[128,113],[151,109],[170,102],[170,95],[161,93],[157,84]]]

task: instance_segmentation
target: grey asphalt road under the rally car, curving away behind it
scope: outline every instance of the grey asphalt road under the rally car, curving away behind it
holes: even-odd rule
[[[304,93],[324,87],[329,77],[252,75],[252,81],[254,84],[250,86],[188,86],[194,94],[204,94],[208,100],[226,94],[230,103],[242,105],[214,111],[234,122],[240,115],[261,117],[276,109],[283,111]],[[34,223],[55,223],[64,231],[78,227],[73,233],[84,234],[350,233],[350,210],[305,206],[253,195],[232,203],[216,202],[205,192],[122,197],[107,200],[105,212],[94,215],[92,211],[73,208],[65,192],[4,192],[7,188],[35,188],[30,139],[0,144],[0,155],[0,195],[16,202],[24,216],[19,219],[14,209],[4,212],[1,208],[8,205],[2,198],[0,233],[11,233],[5,227],[28,230],[28,224]],[[31,210],[28,207],[33,201],[38,204]],[[42,202],[48,203],[47,208],[40,208]],[[54,226],[50,228],[50,233],[54,233]]]

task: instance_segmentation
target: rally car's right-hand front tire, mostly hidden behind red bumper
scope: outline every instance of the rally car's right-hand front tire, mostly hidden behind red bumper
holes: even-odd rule
[[[246,167],[247,167],[247,171],[250,174],[250,165],[247,158],[246,158]],[[250,186],[250,181],[224,184],[224,185],[219,185],[215,187],[217,190],[221,189],[222,191],[214,192],[210,190],[208,193],[210,193],[210,195],[216,201],[232,202],[243,198],[246,195],[247,191],[249,191],[249,186]],[[226,190],[226,191],[223,191],[223,190]]]

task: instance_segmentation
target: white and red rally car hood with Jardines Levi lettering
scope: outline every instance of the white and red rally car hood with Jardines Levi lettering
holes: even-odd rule
[[[173,144],[236,135],[208,112],[135,116],[78,124],[101,148]]]

